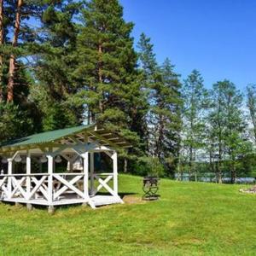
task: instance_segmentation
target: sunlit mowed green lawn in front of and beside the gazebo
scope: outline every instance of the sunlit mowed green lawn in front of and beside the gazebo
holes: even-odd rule
[[[45,208],[0,204],[1,255],[256,255],[256,196],[242,185],[162,179],[160,201]],[[119,176],[141,197],[142,178]]]

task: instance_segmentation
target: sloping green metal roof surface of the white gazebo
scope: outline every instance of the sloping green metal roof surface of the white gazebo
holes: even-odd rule
[[[14,139],[14,140],[8,141],[6,143],[0,144],[0,151],[3,150],[4,148],[9,148],[9,147],[20,147],[20,146],[28,146],[28,145],[32,145],[32,144],[52,143],[55,140],[60,139],[61,137],[66,137],[68,135],[72,135],[74,133],[86,130],[93,126],[95,126],[95,124],[80,125],[80,126],[61,129],[61,130],[45,131],[45,132],[41,132],[41,133],[34,134],[31,136]]]

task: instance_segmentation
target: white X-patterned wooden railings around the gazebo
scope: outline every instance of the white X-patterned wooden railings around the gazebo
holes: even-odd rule
[[[113,173],[94,173],[97,186],[92,195],[106,189],[111,195],[117,195],[109,186]],[[84,183],[87,185],[84,186]],[[33,173],[0,176],[0,199],[22,199],[26,201],[44,200],[59,201],[61,199],[88,199],[88,180],[84,173]]]

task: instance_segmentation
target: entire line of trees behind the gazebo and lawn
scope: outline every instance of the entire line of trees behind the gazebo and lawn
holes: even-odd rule
[[[118,0],[0,0],[0,141],[103,123],[133,144],[124,172],[195,177],[207,162],[235,178],[253,152],[255,87],[245,105],[230,81],[182,81],[144,33],[134,45],[133,26]]]

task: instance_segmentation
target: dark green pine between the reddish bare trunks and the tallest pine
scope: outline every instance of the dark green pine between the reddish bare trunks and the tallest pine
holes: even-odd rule
[[[40,23],[44,37],[38,34],[36,42],[29,45],[38,80],[32,87],[32,98],[42,111],[45,131],[83,121],[83,102],[77,96],[80,86],[73,77],[78,65],[75,58],[78,30],[73,19],[79,7],[80,3],[69,1],[44,7]]]

